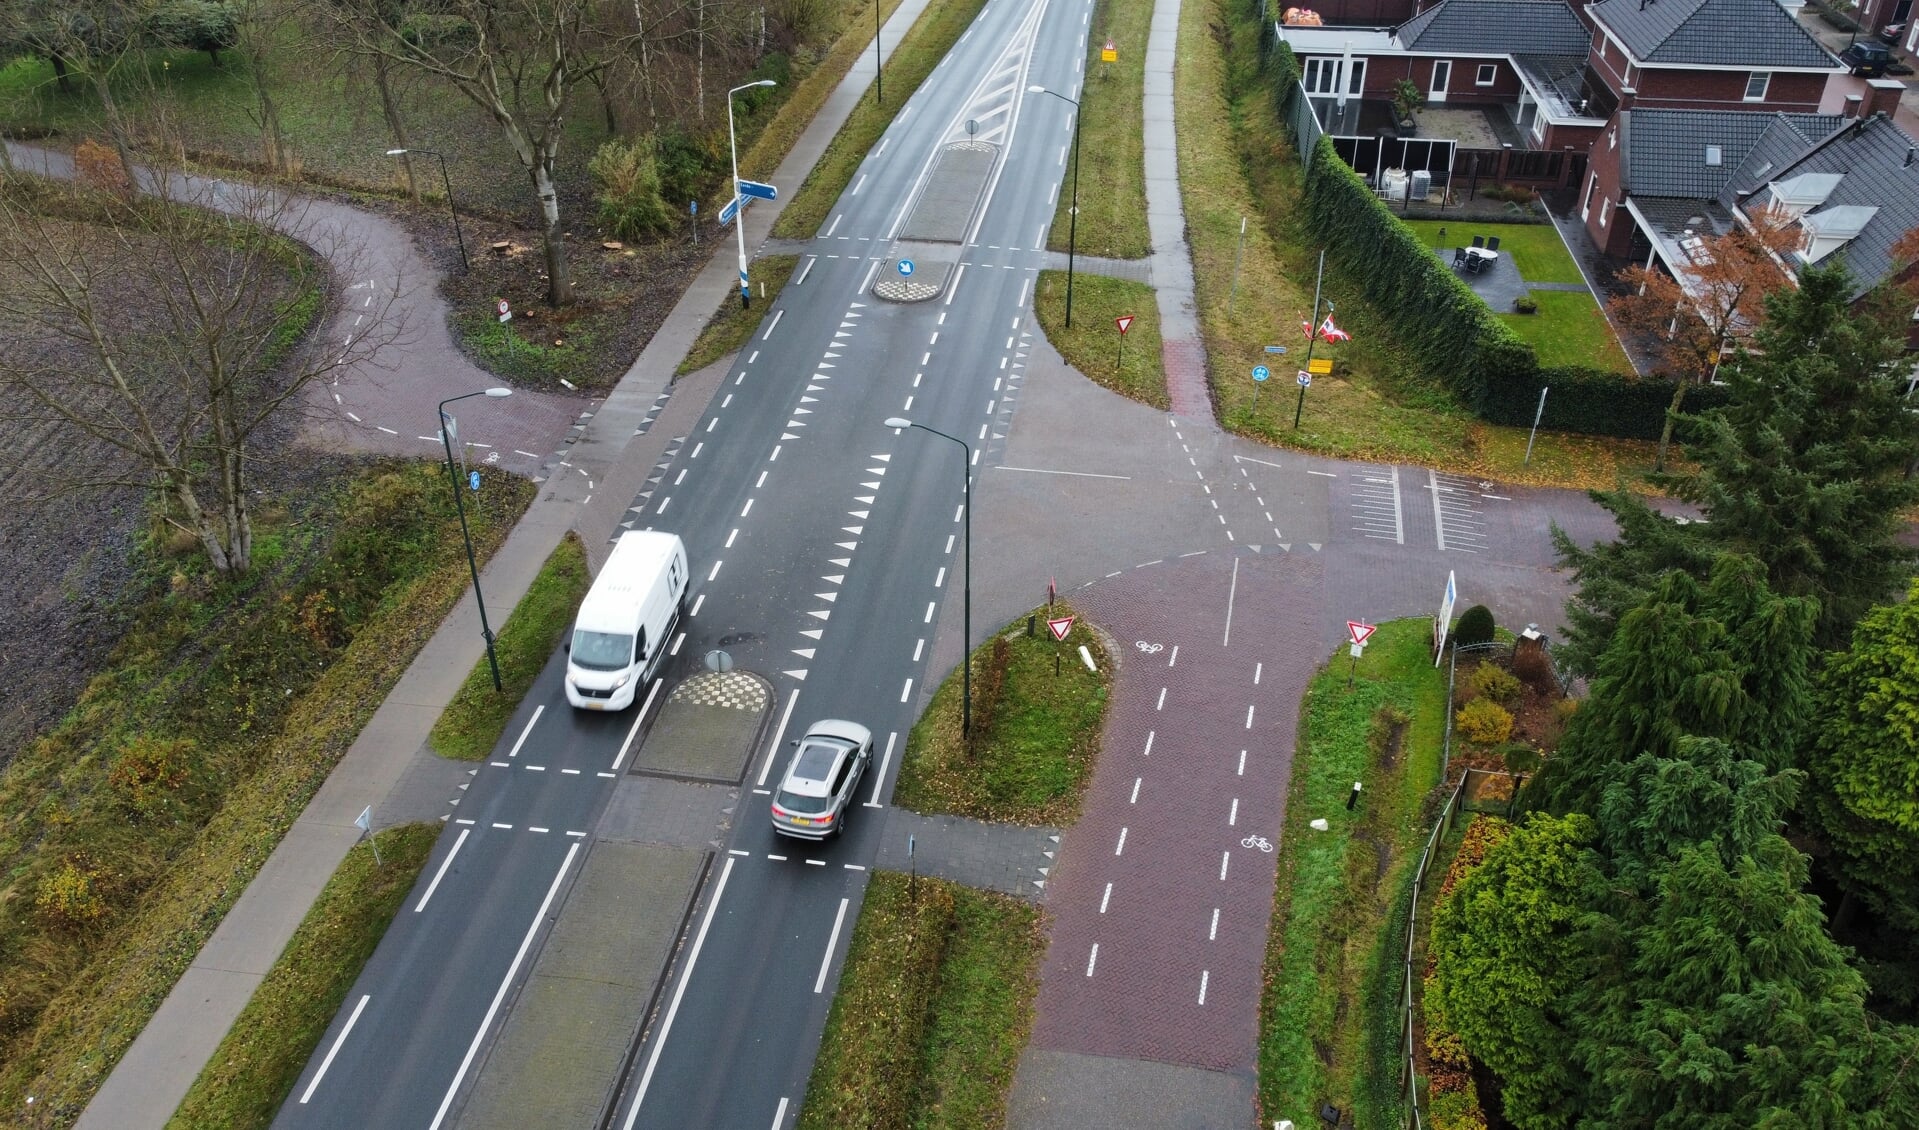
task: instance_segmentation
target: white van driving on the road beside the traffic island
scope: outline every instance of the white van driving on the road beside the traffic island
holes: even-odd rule
[[[620,535],[580,602],[566,645],[566,700],[580,710],[626,710],[660,670],[687,595],[687,545],[677,533]]]

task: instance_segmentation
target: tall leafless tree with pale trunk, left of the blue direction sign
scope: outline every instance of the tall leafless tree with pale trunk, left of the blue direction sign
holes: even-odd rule
[[[553,167],[574,86],[610,59],[599,0],[380,0],[330,8],[355,50],[439,77],[484,109],[533,182],[547,253],[547,301],[574,301]]]

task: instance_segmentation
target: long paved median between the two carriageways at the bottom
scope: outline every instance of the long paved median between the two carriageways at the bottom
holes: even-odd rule
[[[593,844],[480,1069],[462,1130],[601,1124],[706,858],[658,844]]]

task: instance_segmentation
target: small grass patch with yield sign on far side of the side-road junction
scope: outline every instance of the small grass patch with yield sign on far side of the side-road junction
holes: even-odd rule
[[[1073,328],[1065,324],[1067,272],[1040,271],[1032,313],[1067,365],[1098,386],[1155,409],[1167,409],[1167,368],[1159,357],[1159,303],[1153,288],[1130,278],[1078,272],[1073,278]],[[1126,347],[1113,318],[1132,315]]]

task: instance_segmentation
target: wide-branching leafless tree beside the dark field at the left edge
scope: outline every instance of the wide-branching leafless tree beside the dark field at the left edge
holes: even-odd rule
[[[84,482],[136,485],[223,574],[251,564],[251,441],[303,389],[391,340],[384,295],[351,343],[299,340],[351,249],[297,198],[142,169],[144,196],[13,177],[0,186],[0,393],[8,416],[123,453]]]

